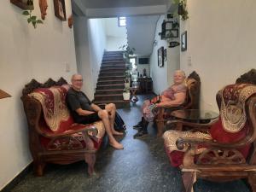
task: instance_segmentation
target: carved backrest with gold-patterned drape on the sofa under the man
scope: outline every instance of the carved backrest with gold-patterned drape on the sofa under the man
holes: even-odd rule
[[[23,90],[21,97],[28,123],[41,133],[60,133],[73,125],[65,101],[67,82],[49,79],[45,84],[32,80]],[[37,125],[35,125],[37,124]]]

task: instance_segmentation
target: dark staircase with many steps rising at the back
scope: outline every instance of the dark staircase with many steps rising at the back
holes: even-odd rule
[[[113,102],[117,108],[130,108],[130,101],[124,101],[125,61],[122,51],[106,51],[102,59],[94,103],[102,107],[102,103]]]

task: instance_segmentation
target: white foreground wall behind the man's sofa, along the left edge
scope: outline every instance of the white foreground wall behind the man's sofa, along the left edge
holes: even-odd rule
[[[40,15],[34,1],[34,15]],[[70,79],[77,72],[73,30],[55,17],[48,1],[46,20],[34,29],[22,10],[9,1],[0,1],[0,89],[12,96],[0,100],[0,190],[31,161],[27,124],[20,101],[21,90],[31,79],[39,82]],[[71,14],[66,1],[67,16]],[[69,68],[69,72],[66,71]]]

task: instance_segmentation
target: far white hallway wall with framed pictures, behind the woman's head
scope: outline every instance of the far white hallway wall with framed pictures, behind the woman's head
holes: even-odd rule
[[[152,55],[150,56],[150,76],[153,79],[154,93],[160,94],[163,90],[166,90],[170,86],[172,76],[175,70],[179,69],[179,46],[176,48],[168,48],[166,40],[161,40],[159,32],[161,32],[161,24],[165,19],[165,15],[161,15],[157,21],[157,26],[154,34],[156,44],[153,48]],[[163,46],[166,49],[166,61],[164,67],[158,67],[157,50]]]

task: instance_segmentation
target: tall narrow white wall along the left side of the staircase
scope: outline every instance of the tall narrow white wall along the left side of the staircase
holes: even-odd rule
[[[104,21],[74,17],[74,33],[78,71],[84,78],[83,90],[90,99],[93,99],[102,55],[106,49]]]

